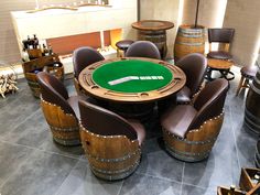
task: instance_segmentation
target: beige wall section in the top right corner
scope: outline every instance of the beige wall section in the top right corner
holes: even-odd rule
[[[241,65],[256,62],[260,43],[260,1],[228,0],[224,26],[234,28],[231,53]]]

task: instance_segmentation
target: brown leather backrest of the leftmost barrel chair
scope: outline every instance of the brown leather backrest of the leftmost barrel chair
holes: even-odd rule
[[[68,94],[61,80],[45,72],[37,73],[36,77],[43,100],[62,107],[66,113],[75,115],[67,102]]]

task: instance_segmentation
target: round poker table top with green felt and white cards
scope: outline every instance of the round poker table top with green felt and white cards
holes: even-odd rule
[[[89,96],[119,104],[154,102],[178,91],[185,82],[177,66],[142,57],[105,59],[79,74],[79,84]]]

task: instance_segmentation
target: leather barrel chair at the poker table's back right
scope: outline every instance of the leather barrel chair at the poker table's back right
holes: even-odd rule
[[[203,87],[204,76],[207,69],[207,58],[199,53],[188,54],[177,63],[186,75],[185,86],[176,94],[177,104],[191,104]]]

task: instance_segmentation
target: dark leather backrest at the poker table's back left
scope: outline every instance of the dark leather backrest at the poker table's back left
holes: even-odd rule
[[[74,76],[78,78],[79,73],[90,64],[105,59],[96,50],[89,46],[76,48],[73,52]]]

